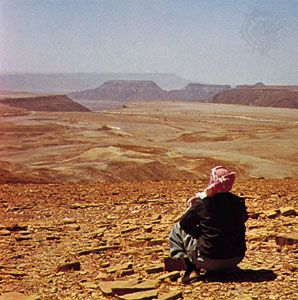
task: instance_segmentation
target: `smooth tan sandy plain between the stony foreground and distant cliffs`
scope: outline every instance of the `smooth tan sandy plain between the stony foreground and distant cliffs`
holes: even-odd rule
[[[1,113],[1,109],[0,109]],[[2,113],[1,182],[296,177],[298,111],[136,102],[88,113]]]

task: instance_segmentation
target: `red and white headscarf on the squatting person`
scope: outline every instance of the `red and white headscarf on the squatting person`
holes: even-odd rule
[[[234,181],[235,172],[231,172],[222,166],[217,166],[211,170],[207,188],[197,195],[200,198],[205,198],[217,193],[227,193],[232,189]]]

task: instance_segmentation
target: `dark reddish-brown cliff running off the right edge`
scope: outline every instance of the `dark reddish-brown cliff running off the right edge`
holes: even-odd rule
[[[298,86],[238,86],[215,95],[208,102],[251,106],[298,108]]]

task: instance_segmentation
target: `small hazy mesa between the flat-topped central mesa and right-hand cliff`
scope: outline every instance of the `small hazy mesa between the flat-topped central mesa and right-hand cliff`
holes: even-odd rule
[[[170,91],[169,98],[172,100],[203,100],[230,88],[230,85],[189,83],[181,90]]]

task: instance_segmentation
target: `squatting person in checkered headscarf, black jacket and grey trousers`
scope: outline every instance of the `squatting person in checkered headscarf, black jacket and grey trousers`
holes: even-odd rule
[[[170,233],[171,257],[186,266],[184,283],[195,280],[199,269],[229,270],[244,258],[247,212],[244,199],[229,192],[234,180],[234,172],[213,168],[209,185],[188,200]]]

